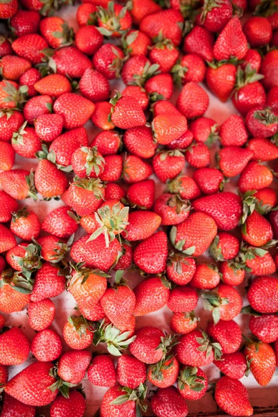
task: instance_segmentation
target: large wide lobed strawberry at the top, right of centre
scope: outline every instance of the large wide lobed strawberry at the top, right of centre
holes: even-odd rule
[[[179,10],[168,9],[143,17],[139,28],[149,38],[155,38],[161,32],[163,38],[171,40],[175,46],[178,46],[181,43],[182,30],[179,26],[181,23],[183,16]]]

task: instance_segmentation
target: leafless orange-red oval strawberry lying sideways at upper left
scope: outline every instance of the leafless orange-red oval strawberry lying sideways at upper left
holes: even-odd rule
[[[42,95],[60,97],[66,92],[72,92],[72,85],[63,74],[49,74],[34,84],[35,91]]]

